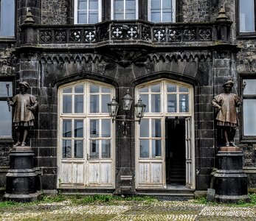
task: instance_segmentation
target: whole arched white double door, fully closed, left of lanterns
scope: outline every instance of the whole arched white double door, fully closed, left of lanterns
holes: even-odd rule
[[[85,80],[59,88],[59,185],[114,186],[114,88]]]

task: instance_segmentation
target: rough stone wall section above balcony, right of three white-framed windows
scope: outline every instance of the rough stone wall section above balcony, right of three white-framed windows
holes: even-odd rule
[[[210,21],[210,1],[183,0],[181,15],[183,22]]]

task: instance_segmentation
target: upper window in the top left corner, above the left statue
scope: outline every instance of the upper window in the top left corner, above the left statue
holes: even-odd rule
[[[0,37],[13,37],[15,0],[0,0]]]

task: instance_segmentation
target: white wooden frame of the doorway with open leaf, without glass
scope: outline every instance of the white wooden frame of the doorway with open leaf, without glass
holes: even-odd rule
[[[190,118],[191,119],[191,125],[190,125],[190,130],[191,130],[191,152],[190,152],[190,156],[192,158],[192,162],[191,162],[191,174],[190,174],[190,186],[188,188],[190,189],[195,189],[196,188],[196,153],[195,153],[195,134],[194,134],[194,99],[193,99],[193,86],[186,84],[186,83],[181,83],[179,81],[176,80],[168,80],[168,79],[161,79],[161,80],[153,80],[150,81],[148,83],[144,83],[141,85],[137,85],[135,88],[135,100],[139,99],[139,88],[145,87],[147,85],[154,85],[160,83],[161,84],[161,111],[160,113],[145,113],[143,119],[162,119],[161,120],[161,125],[162,125],[162,141],[161,141],[161,145],[162,145],[162,149],[161,149],[161,156],[160,157],[156,157],[156,158],[152,158],[151,157],[151,149],[150,151],[150,157],[149,158],[140,158],[139,154],[140,154],[140,150],[139,150],[139,124],[136,124],[135,126],[135,174],[136,174],[136,179],[135,179],[135,186],[136,189],[166,189],[167,185],[166,185],[166,172],[165,172],[165,118],[166,117],[171,117],[171,116],[184,116],[186,118]],[[189,111],[186,113],[181,113],[179,112],[179,105],[177,105],[177,111],[176,113],[168,113],[167,112],[167,83],[171,83],[173,85],[179,85],[185,88],[189,88]],[[177,88],[177,94],[179,94],[182,92],[178,91]],[[164,102],[163,102],[164,101]],[[143,102],[143,100],[142,100]],[[149,101],[150,102],[150,101]],[[177,102],[179,102],[179,100],[177,99]],[[149,108],[149,110],[151,110],[151,108]],[[187,130],[187,128],[186,128]],[[151,144],[149,145],[151,148]],[[142,174],[139,174],[139,166],[142,164],[149,164],[149,170],[151,171],[151,166],[156,165],[156,164],[162,164],[162,179],[160,179],[162,181],[162,183],[151,183],[152,180],[152,171],[149,173],[151,175],[150,178],[148,178],[148,183],[139,183],[140,178],[143,176]],[[187,172],[186,172],[187,173]],[[188,178],[187,178],[188,179]],[[187,181],[187,180],[186,180]]]

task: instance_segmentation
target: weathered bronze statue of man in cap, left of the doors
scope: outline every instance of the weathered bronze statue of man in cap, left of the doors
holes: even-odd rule
[[[27,94],[30,85],[27,82],[19,83],[19,94],[16,94],[13,99],[7,98],[8,105],[15,108],[13,115],[13,125],[15,127],[17,143],[14,147],[26,146],[28,129],[34,126],[35,116],[32,111],[38,106],[38,100],[31,94]]]

